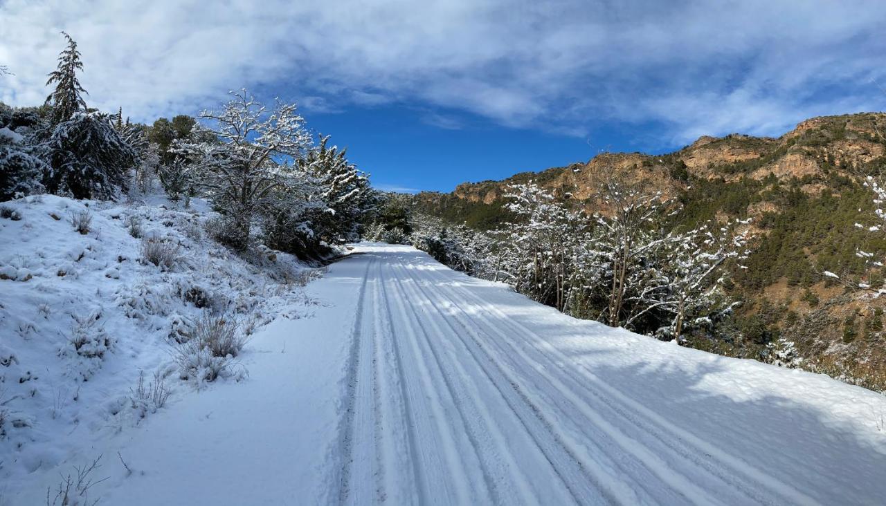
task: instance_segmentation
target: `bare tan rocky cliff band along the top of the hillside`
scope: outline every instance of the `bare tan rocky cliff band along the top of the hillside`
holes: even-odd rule
[[[506,180],[465,182],[455,187],[452,195],[471,203],[492,204],[501,198],[504,188],[532,180],[558,195],[571,194],[582,200],[594,196],[595,178],[602,171],[613,170],[630,173],[639,180],[651,180],[669,195],[685,188],[681,168],[689,176],[705,180],[764,180],[770,174],[779,179],[822,178],[831,170],[854,173],[875,165],[886,154],[881,135],[884,129],[886,113],[813,118],[777,139],[744,134],[704,135],[666,155],[604,153],[584,163],[539,173],[518,173]],[[816,189],[820,188],[809,186],[804,191]]]

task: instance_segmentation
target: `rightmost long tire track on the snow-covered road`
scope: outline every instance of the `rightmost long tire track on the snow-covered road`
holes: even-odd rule
[[[451,281],[446,280],[442,276],[439,277],[439,280],[444,283]],[[521,340],[534,349],[535,353],[544,358],[544,360],[540,362],[537,359],[528,357],[525,355],[525,349],[517,349],[516,346],[512,344],[514,350],[522,355],[527,363],[551,364],[552,367],[546,369],[544,371],[545,374],[548,374],[548,370],[550,370],[570,377],[569,381],[575,389],[584,391],[595,397],[598,402],[606,404],[607,408],[613,411],[618,417],[623,418],[628,423],[637,427],[642,433],[652,435],[652,439],[656,443],[666,446],[672,455],[679,456],[688,463],[694,464],[702,468],[703,471],[709,472],[712,475],[712,478],[719,479],[727,484],[727,486],[734,487],[736,491],[740,491],[746,498],[754,502],[768,504],[783,504],[786,500],[799,504],[817,503],[811,497],[797,491],[794,487],[790,487],[778,479],[774,479],[765,472],[744,462],[742,459],[717,449],[708,441],[701,440],[696,435],[680,429],[680,427],[673,426],[671,422],[660,417],[654,411],[637,403],[618,389],[610,387],[609,384],[605,383],[591,372],[587,366],[578,364],[570,357],[565,356],[563,352],[556,349],[539,334],[536,334],[528,327],[513,320],[513,318],[509,318],[507,314],[496,308],[493,304],[486,303],[486,301],[483,301],[477,295],[471,293],[469,289],[450,288],[445,286],[445,284],[442,285],[441,288],[449,291],[450,294],[457,294],[454,297],[448,298],[458,311],[464,312],[462,306],[457,302],[458,300],[463,301],[468,299],[474,301],[474,303],[478,307],[483,308],[487,314],[495,316],[495,321],[499,322],[502,326],[508,327],[513,334],[520,336]],[[483,318],[476,319],[478,321],[483,321]],[[490,327],[493,328],[495,334],[499,335],[502,342],[512,343],[508,335],[503,334],[494,326],[490,325]],[[548,353],[545,353],[541,348],[547,350]],[[579,375],[577,372],[571,371],[569,367],[558,366],[558,363],[574,364],[582,369],[584,374]],[[587,381],[589,380],[596,388],[591,388],[587,385]],[[570,388],[564,388],[563,390],[571,391]],[[605,394],[603,394],[603,392],[605,392]],[[710,459],[704,459],[703,456],[709,456]],[[719,465],[714,464],[711,460],[716,461]],[[747,479],[740,479],[740,476],[744,476]],[[750,479],[750,481],[748,479]],[[780,497],[772,498],[760,494],[760,487],[765,487]]]

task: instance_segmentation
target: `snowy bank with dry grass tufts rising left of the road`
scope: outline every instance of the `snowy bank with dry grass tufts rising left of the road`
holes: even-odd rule
[[[202,385],[180,380],[173,356],[204,311],[245,332],[280,307],[307,311],[295,286],[304,265],[269,251],[247,262],[206,237],[205,204],[166,204],[0,204],[0,504],[29,473],[58,478],[69,471],[58,464],[151,418],[158,403],[138,395],[143,373],[144,387],[161,381],[171,395],[161,410],[189,403]],[[81,234],[74,222],[87,215]],[[168,262],[154,265],[146,244]]]

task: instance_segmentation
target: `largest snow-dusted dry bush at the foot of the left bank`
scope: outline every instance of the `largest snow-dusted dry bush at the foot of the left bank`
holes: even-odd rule
[[[182,379],[208,382],[227,375],[246,341],[237,321],[204,311],[194,322],[190,339],[175,347],[175,363]]]

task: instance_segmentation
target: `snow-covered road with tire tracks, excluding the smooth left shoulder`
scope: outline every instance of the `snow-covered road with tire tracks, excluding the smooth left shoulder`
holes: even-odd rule
[[[880,436],[879,450],[843,447],[857,442],[845,441],[851,433],[803,404],[812,387],[804,380],[820,378],[566,318],[413,249],[375,247],[348,261],[364,273],[341,427],[343,502],[873,504],[886,497],[886,434],[869,434]],[[604,339],[610,342],[580,342]],[[634,348],[659,353],[648,363],[606,359]],[[686,371],[668,356],[705,365]],[[625,358],[630,367],[619,364]],[[744,378],[742,365],[766,380]],[[739,391],[697,387],[708,375],[720,377],[713,386]],[[759,380],[797,385],[776,399],[754,391]],[[825,383],[835,396],[882,401]]]

